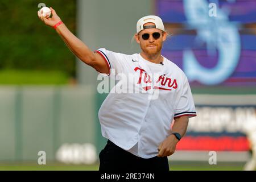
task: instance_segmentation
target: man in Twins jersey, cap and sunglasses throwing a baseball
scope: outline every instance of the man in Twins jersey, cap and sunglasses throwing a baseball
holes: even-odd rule
[[[122,75],[112,91],[119,85],[134,89],[133,93],[110,91],[101,105],[98,117],[108,143],[100,152],[100,171],[168,171],[167,156],[174,154],[196,111],[187,77],[161,55],[167,38],[162,19],[152,15],[139,19],[134,38],[141,52],[125,55],[105,48],[91,51],[55,10],[51,12],[52,18],[40,12],[38,16],[55,28],[81,61],[105,76]],[[155,93],[158,97],[152,99]]]

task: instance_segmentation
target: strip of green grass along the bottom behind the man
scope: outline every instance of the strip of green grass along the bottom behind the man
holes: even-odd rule
[[[171,163],[171,162],[170,162]],[[241,171],[244,163],[217,163],[209,165],[202,162],[173,162],[170,164],[171,171]],[[51,163],[37,165],[29,163],[0,164],[0,171],[97,171],[98,164],[93,165],[67,165]]]

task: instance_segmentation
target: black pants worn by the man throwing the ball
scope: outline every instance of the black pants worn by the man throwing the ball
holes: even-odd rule
[[[167,157],[143,159],[108,140],[100,152],[100,171],[169,171]]]

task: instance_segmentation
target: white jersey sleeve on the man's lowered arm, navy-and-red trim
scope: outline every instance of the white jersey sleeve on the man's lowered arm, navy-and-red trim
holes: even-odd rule
[[[179,92],[174,112],[174,119],[185,115],[189,118],[195,117],[196,109],[187,77],[185,77],[185,81]]]

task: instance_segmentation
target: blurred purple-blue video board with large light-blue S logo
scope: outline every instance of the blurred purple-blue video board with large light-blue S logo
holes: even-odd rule
[[[163,55],[192,86],[256,86],[256,1],[158,0]]]

